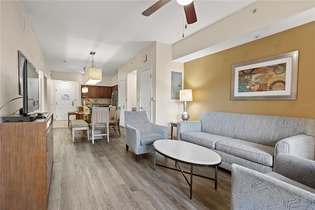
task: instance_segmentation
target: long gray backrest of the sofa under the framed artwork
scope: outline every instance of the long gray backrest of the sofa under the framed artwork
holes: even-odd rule
[[[202,132],[273,147],[299,134],[315,137],[315,119],[310,118],[203,111],[199,120]]]

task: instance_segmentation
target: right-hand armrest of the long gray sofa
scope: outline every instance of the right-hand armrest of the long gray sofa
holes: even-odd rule
[[[278,141],[275,146],[275,159],[280,152],[283,152],[285,154],[314,160],[314,150],[315,138],[300,134]]]

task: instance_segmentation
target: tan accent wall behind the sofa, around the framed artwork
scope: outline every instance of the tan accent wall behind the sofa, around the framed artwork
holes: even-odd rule
[[[230,100],[232,64],[295,50],[299,50],[297,100]],[[187,62],[184,87],[193,95],[193,102],[187,103],[189,120],[197,120],[201,111],[315,119],[315,22]]]

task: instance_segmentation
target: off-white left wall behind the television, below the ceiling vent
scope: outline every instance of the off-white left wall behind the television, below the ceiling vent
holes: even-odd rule
[[[0,105],[10,101],[19,95],[19,70],[18,70],[18,50],[36,68],[37,73],[43,71],[48,76],[47,91],[51,92],[51,70],[46,61],[36,36],[25,17],[25,30],[21,28],[16,18],[17,1],[0,1]],[[21,7],[22,8],[22,7]],[[48,97],[48,110],[51,111],[51,98]],[[21,108],[22,99],[10,102],[0,110],[0,116],[13,114]]]

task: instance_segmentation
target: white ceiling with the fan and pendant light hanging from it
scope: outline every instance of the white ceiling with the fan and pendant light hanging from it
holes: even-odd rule
[[[256,0],[194,0],[197,22],[185,37]],[[21,0],[23,10],[52,71],[83,73],[94,65],[103,76],[136,57],[154,41],[183,39],[184,9],[171,1],[151,16],[141,13],[157,0]],[[66,62],[64,62],[66,61]]]

